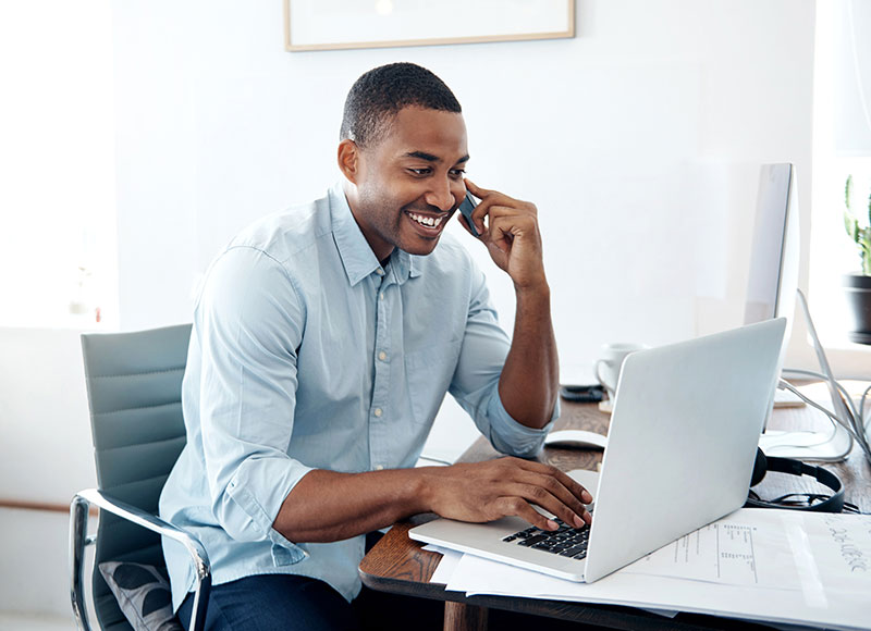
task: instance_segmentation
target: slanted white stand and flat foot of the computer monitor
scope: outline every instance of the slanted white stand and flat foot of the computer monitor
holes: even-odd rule
[[[825,356],[823,346],[820,344],[820,338],[817,336],[817,329],[813,326],[805,294],[801,293],[801,289],[796,289],[796,293],[798,302],[801,305],[801,311],[805,314],[805,322],[808,325],[813,349],[817,352],[817,359],[820,362],[820,371],[826,378],[825,384],[829,386],[833,411],[835,416],[847,421],[852,418],[852,412],[844,404],[835,386],[835,378],[832,374],[832,368],[829,366],[829,359]],[[766,429],[759,438],[759,446],[765,456],[837,462],[846,458],[852,450],[852,436],[839,424],[835,424],[835,429],[826,429],[822,432],[785,432]]]

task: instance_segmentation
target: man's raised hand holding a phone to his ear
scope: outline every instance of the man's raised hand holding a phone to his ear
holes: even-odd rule
[[[458,210],[466,230],[483,242],[493,262],[511,276],[515,287],[545,284],[536,206],[481,188],[469,180],[465,183],[466,199]],[[469,193],[480,198],[477,206],[471,206]]]

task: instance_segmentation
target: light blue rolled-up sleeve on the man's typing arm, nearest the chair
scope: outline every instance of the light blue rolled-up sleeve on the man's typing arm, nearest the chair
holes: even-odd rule
[[[235,540],[268,539],[306,553],[272,528],[311,468],[287,456],[305,308],[284,267],[256,248],[228,250],[196,308],[200,428],[212,511]]]

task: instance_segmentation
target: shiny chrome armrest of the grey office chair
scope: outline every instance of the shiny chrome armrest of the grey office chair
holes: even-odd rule
[[[72,571],[70,595],[73,602],[73,614],[81,629],[90,629],[85,609],[83,585],[84,552],[87,532],[89,506],[111,512],[132,523],[146,528],[162,536],[181,543],[191,555],[196,570],[196,590],[194,607],[191,616],[192,631],[201,631],[206,621],[206,606],[211,590],[211,566],[206,548],[195,536],[185,530],[160,519],[136,506],[115,499],[97,488],[86,488],[75,494],[70,505],[70,568]]]

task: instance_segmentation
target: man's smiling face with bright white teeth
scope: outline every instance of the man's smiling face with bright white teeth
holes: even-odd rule
[[[463,115],[404,108],[380,140],[358,150],[351,209],[375,255],[430,253],[466,195]]]

